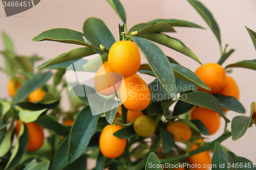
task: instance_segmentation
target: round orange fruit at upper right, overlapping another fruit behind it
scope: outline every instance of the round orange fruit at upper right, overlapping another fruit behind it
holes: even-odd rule
[[[198,86],[199,91],[205,91],[210,94],[217,93],[226,83],[226,72],[221,65],[217,63],[207,63],[201,65],[195,74],[208,86],[210,91]]]

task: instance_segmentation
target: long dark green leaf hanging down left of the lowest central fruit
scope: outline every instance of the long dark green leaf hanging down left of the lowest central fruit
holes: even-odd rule
[[[87,145],[95,133],[99,114],[93,116],[92,108],[84,107],[77,115],[71,128],[69,138],[68,163],[74,162],[86,150]]]

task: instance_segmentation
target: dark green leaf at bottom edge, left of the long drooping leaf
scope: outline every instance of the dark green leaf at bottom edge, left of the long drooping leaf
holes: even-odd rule
[[[52,169],[61,170],[68,164],[67,162],[68,150],[69,150],[69,137],[65,138],[57,148],[53,157]]]

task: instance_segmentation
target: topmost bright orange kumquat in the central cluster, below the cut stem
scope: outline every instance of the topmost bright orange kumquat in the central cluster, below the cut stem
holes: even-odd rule
[[[117,41],[110,48],[108,61],[112,72],[129,78],[139,70],[140,52],[132,41]]]

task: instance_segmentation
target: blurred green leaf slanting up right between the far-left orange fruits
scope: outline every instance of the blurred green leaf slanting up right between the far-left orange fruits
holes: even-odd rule
[[[13,97],[13,102],[20,102],[24,100],[31,92],[44,85],[51,77],[51,71],[34,76],[17,90]]]

